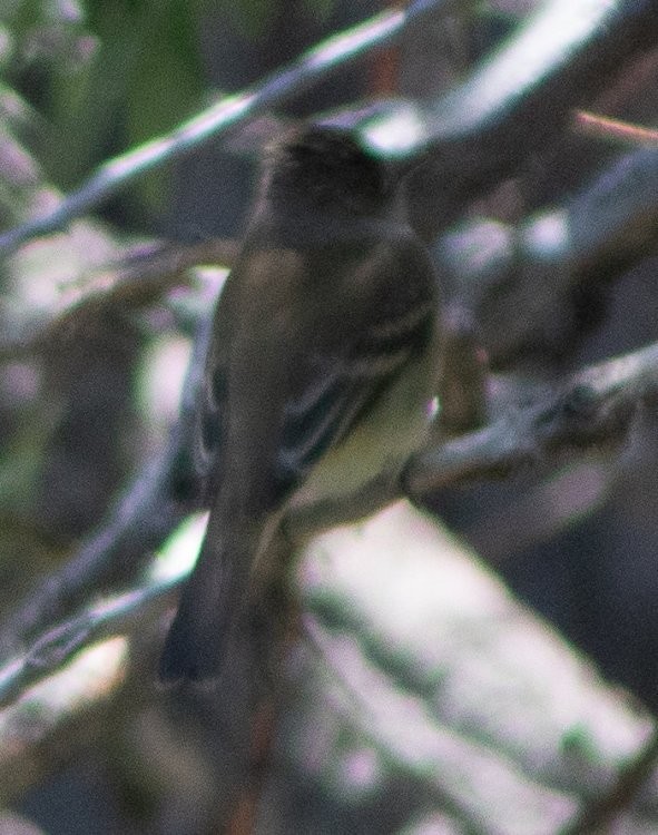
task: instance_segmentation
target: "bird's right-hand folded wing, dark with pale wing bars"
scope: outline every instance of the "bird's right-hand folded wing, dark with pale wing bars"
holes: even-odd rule
[[[315,323],[291,375],[276,456],[284,481],[303,480],[433,336],[435,285],[420,246],[380,244],[353,266],[335,281],[335,323]]]

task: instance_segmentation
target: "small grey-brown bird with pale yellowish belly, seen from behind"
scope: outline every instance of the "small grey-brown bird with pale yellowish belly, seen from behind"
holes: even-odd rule
[[[292,501],[353,493],[428,438],[438,285],[399,180],[337,127],[296,128],[265,156],[215,312],[199,407],[213,502],[164,680],[222,671]]]

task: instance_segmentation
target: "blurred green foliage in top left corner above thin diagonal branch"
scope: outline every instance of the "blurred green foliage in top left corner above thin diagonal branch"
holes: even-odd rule
[[[169,130],[202,100],[203,0],[14,0],[4,76],[45,117],[35,150],[68,189],[108,156]],[[1,66],[1,65],[0,65]],[[150,207],[167,174],[138,185]]]

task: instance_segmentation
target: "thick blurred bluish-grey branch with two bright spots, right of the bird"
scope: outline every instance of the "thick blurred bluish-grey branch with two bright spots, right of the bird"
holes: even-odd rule
[[[518,226],[479,222],[438,240],[439,275],[473,317],[492,365],[546,353],[547,330],[564,347],[572,292],[620,278],[658,249],[657,194],[658,150],[641,149]]]

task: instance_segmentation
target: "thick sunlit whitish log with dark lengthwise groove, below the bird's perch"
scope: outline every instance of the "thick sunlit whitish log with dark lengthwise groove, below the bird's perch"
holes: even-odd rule
[[[655,778],[650,714],[423,513],[400,502],[310,552],[303,626],[316,654],[297,659],[299,773],[317,716],[333,727],[338,714],[316,762],[374,752],[380,786],[404,774],[469,832],[581,832],[591,798],[609,799],[596,819],[610,823],[615,802]],[[337,780],[330,792],[350,775]]]

